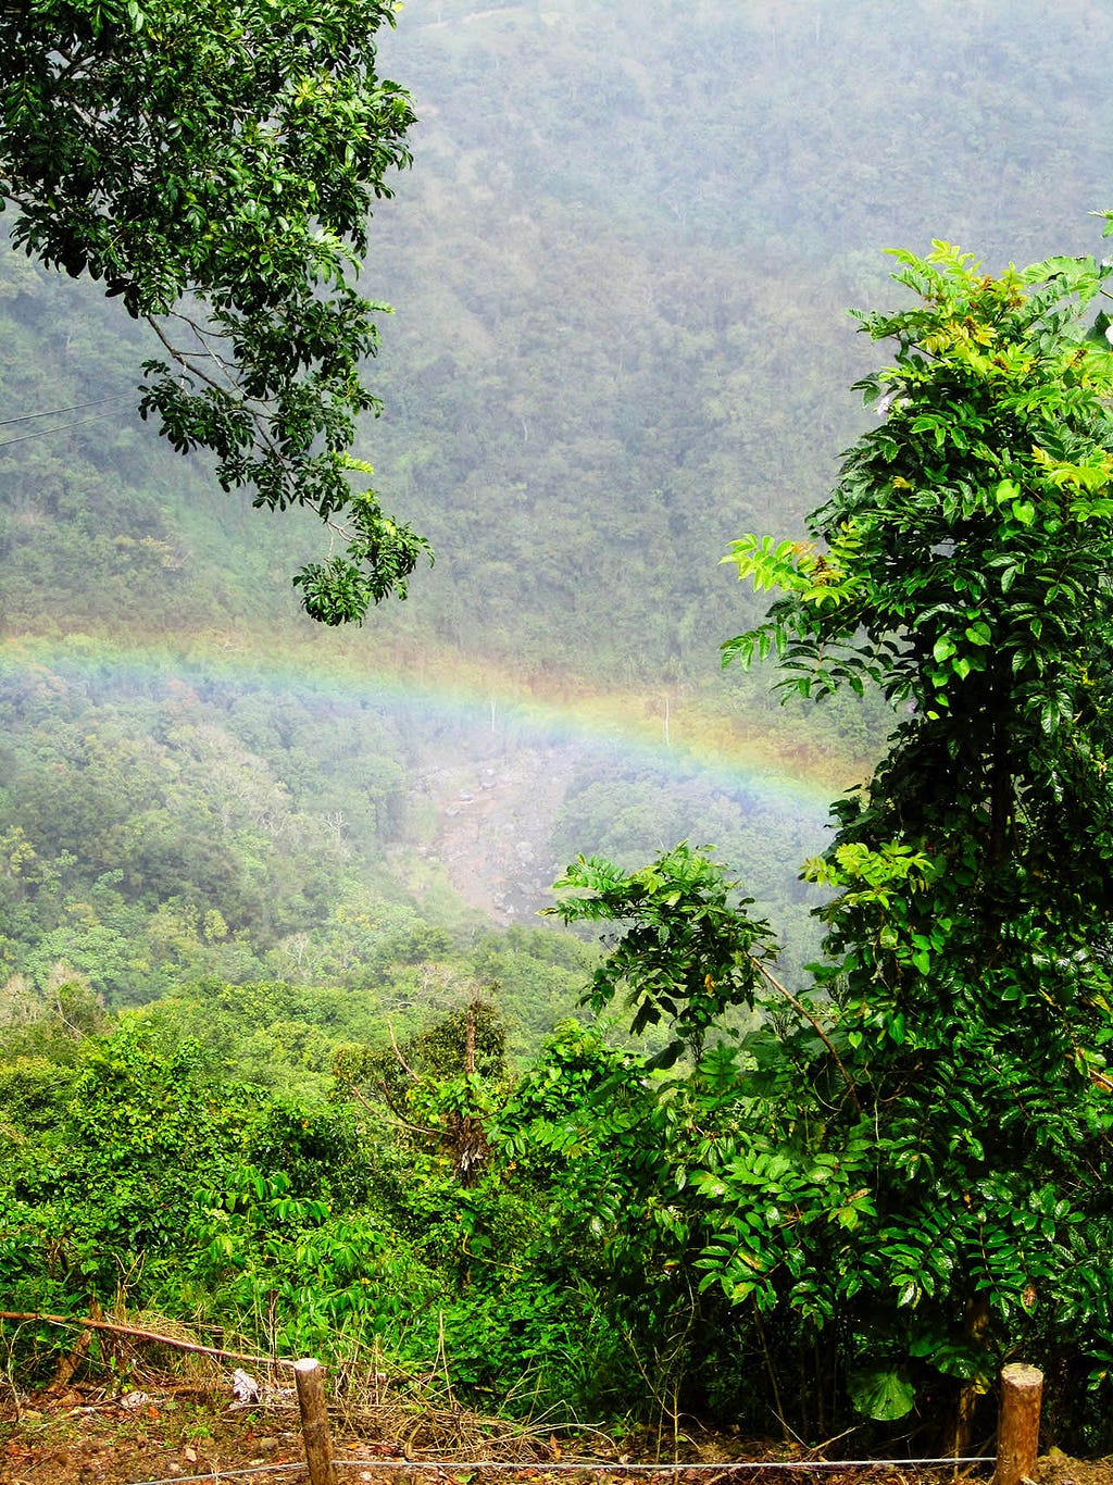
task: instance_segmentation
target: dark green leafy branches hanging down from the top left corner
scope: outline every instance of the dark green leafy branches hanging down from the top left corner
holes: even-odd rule
[[[294,579],[325,624],[361,621],[426,542],[349,454],[374,313],[352,282],[367,220],[410,162],[407,94],[375,71],[389,0],[49,0],[0,19],[0,190],[13,241],[89,273],[148,322],[139,410],[208,448],[226,489],[304,505],[343,555]]]

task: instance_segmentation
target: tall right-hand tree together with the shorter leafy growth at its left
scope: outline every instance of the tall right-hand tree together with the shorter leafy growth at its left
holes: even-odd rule
[[[962,1446],[1005,1356],[1054,1363],[1067,1424],[1113,1357],[1110,269],[898,258],[917,303],[861,316],[896,345],[862,383],[881,422],[813,541],[732,558],[782,595],[727,659],[776,650],[788,693],[898,707],[806,866],[834,894],[828,961],[806,995],[758,996],[779,990],[763,925],[687,851],[562,885],[586,888],[565,916],[622,925],[597,1004],[625,986],[702,1051],[659,1090],[657,1179],[677,1262],[742,1345],[748,1322],[778,1414],[787,1375],[801,1432],[847,1397],[893,1420],[930,1394]],[[764,1022],[708,1050],[732,999]]]

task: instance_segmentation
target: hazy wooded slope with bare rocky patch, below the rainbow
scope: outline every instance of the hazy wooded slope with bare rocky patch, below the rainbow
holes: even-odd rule
[[[528,925],[583,833],[632,864],[692,820],[751,855],[748,881],[795,922],[791,964],[809,940],[791,867],[816,805],[801,821],[693,765],[666,781],[617,747],[542,745],[513,716],[166,656],[122,670],[89,642],[9,655],[0,717],[0,971],[33,998],[73,973],[117,1005],[279,977],[405,1022],[497,983],[536,1045],[592,956],[527,928],[522,982],[500,949],[476,959],[485,925]]]

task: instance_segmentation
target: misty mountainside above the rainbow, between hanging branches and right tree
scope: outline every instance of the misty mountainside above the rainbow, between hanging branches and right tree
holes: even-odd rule
[[[1110,24],[411,0],[387,58],[423,122],[375,229],[398,316],[368,450],[439,566],[401,621],[525,670],[712,671],[745,604],[726,542],[791,533],[862,426],[846,309],[892,297],[881,249],[1097,244]]]

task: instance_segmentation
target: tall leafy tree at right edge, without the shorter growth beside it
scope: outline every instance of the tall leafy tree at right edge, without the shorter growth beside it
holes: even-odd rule
[[[862,383],[883,420],[813,517],[822,546],[736,545],[784,597],[727,656],[775,646],[789,691],[873,682],[901,708],[809,866],[877,1129],[843,1283],[876,1359],[976,1383],[1017,1345],[1113,1341],[1113,356],[1109,316],[1088,328],[1110,270],[898,260],[919,303],[862,316],[896,343]]]

